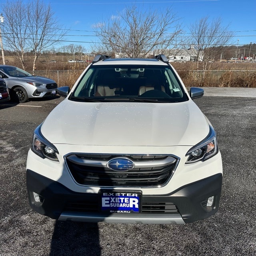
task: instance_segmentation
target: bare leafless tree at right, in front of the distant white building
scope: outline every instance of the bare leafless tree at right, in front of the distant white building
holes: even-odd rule
[[[226,44],[232,40],[234,33],[229,31],[229,26],[222,26],[221,18],[209,20],[208,16],[191,24],[189,30],[190,42],[198,52],[197,68],[199,69],[202,64],[205,74],[208,63],[211,63],[216,56],[220,56]]]

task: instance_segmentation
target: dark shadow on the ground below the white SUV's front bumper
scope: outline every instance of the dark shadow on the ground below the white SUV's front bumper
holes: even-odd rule
[[[97,223],[56,221],[50,256],[100,256]]]

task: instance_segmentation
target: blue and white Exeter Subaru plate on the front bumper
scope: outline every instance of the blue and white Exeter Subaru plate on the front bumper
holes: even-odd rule
[[[100,210],[104,213],[140,213],[141,191],[100,190]]]

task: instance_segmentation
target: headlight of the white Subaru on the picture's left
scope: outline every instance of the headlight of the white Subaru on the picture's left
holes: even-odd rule
[[[41,124],[36,128],[32,140],[32,151],[42,158],[48,158],[53,161],[59,161],[56,154],[57,148],[52,145],[41,133]]]

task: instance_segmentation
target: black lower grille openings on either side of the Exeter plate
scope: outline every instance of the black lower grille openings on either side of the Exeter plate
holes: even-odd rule
[[[64,211],[100,212],[97,201],[67,202]],[[176,214],[178,210],[171,202],[142,202],[142,214]]]

